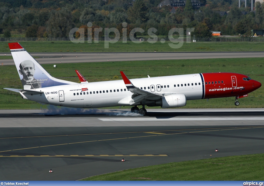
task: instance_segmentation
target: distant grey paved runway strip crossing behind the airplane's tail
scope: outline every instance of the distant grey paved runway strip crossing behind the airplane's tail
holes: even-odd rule
[[[11,53],[0,53],[0,55]],[[120,53],[30,53],[38,56],[40,64],[83,63],[109,61],[138,61],[165,59],[208,59],[208,58],[252,58],[264,57],[264,52],[120,52]],[[0,60],[4,65],[13,65],[13,59]]]

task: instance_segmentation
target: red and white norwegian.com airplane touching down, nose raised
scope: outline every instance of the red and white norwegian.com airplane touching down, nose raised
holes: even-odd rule
[[[81,81],[76,83],[49,75],[19,43],[8,45],[23,89],[4,89],[41,104],[74,108],[132,106],[131,112],[145,115],[145,106],[175,108],[197,99],[234,96],[238,106],[239,98],[261,87],[260,82],[246,75],[230,72],[129,79],[120,71],[122,80],[88,82],[76,70]]]

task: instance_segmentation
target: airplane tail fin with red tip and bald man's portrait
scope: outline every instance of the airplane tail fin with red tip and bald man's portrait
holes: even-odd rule
[[[75,83],[50,76],[19,43],[8,43],[8,45],[24,90]]]

